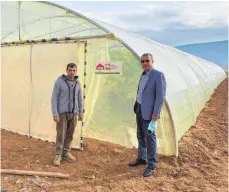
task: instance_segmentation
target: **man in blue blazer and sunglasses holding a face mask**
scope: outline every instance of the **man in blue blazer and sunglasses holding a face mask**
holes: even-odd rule
[[[155,131],[148,132],[151,121],[160,118],[161,108],[165,99],[166,80],[162,72],[153,68],[153,56],[145,53],[141,56],[144,72],[138,85],[134,112],[137,119],[138,158],[129,166],[147,165],[143,174],[148,177],[156,167],[157,138]]]

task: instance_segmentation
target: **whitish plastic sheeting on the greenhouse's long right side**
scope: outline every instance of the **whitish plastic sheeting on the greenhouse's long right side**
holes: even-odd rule
[[[173,47],[126,32],[111,24],[96,22],[112,31],[137,56],[151,53],[154,67],[165,74],[166,100],[172,114],[176,143],[196,121],[196,117],[210,99],[226,74],[219,66]],[[178,148],[177,152],[178,154]]]

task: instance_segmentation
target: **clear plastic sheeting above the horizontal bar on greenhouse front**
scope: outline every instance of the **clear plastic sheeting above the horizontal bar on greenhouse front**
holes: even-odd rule
[[[81,37],[106,34],[83,16],[45,2],[1,2],[1,41]],[[41,27],[42,26],[42,27]]]

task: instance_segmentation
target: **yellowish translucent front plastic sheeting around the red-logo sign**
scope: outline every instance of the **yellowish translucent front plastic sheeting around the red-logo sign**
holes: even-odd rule
[[[138,59],[118,41],[87,41],[87,76],[84,136],[137,147],[136,120],[133,105],[142,72]],[[100,61],[121,61],[123,71],[95,74]],[[174,129],[166,106],[157,129],[158,153],[175,154]]]

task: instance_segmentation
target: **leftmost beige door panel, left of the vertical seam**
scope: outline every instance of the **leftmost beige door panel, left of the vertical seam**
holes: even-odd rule
[[[30,51],[30,45],[4,47],[1,51],[2,128],[26,135],[31,98]]]

